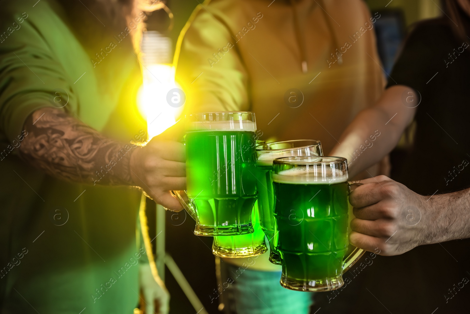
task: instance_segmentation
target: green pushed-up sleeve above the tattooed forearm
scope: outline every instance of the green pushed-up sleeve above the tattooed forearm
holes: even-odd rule
[[[70,80],[36,26],[45,16],[14,8],[0,12],[0,131],[9,141],[35,110],[67,102],[67,110],[76,107]]]

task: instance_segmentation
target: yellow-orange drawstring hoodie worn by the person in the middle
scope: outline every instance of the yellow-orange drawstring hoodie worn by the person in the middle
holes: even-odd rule
[[[185,112],[253,111],[262,138],[328,153],[382,93],[377,18],[360,0],[205,1],[175,55]]]

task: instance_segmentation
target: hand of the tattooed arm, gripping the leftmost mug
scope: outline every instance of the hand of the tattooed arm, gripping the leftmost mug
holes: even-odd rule
[[[163,134],[136,149],[130,162],[131,177],[147,195],[167,209],[180,211],[182,206],[170,191],[186,190],[186,153],[178,123]]]

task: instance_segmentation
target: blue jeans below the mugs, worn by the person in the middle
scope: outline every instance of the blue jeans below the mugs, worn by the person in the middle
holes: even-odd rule
[[[281,272],[244,269],[220,261],[224,314],[308,314],[313,293],[285,289],[280,279]]]

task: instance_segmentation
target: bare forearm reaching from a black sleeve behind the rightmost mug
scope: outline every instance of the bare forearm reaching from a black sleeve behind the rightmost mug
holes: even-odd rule
[[[386,89],[375,106],[356,116],[330,155],[347,158],[350,177],[379,162],[398,144],[417,102],[414,90],[406,86]]]

